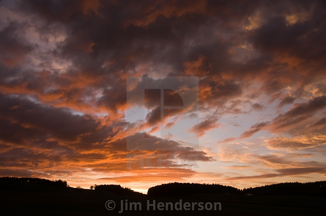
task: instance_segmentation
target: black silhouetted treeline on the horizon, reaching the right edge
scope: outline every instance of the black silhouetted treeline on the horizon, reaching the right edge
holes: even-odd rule
[[[326,196],[326,181],[307,183],[279,183],[260,187],[244,188],[244,195],[300,195]]]

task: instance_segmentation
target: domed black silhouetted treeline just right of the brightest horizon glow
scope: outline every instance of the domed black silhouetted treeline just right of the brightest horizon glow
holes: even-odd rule
[[[148,189],[149,196],[183,196],[197,193],[243,194],[242,190],[221,184],[168,183]]]

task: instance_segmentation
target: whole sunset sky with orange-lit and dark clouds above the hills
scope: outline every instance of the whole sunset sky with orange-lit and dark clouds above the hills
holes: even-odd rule
[[[142,193],[325,181],[325,10],[2,0],[0,176]]]

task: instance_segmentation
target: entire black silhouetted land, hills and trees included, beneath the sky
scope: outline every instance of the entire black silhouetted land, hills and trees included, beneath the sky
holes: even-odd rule
[[[319,194],[318,191],[325,190],[326,182],[281,183],[244,190],[219,184],[170,183],[149,189],[149,195],[158,194],[158,192],[165,194],[162,193],[164,190],[171,195],[160,197],[147,196],[134,192],[130,188],[113,184],[96,185],[94,191],[72,187],[54,187],[52,186],[54,182],[59,181],[38,178],[0,178],[1,215],[326,215],[326,197],[268,196],[266,193],[259,194],[271,189],[273,192],[283,191],[283,194],[286,195],[285,192],[290,191],[290,188],[296,189],[296,192],[304,191],[302,188],[305,188],[311,194]],[[292,185],[296,185],[296,187],[292,187]],[[266,196],[244,195],[248,194],[248,191]],[[191,193],[194,194],[191,195]],[[277,195],[277,193],[273,195]],[[171,202],[175,204],[180,202],[181,199],[183,203],[220,202],[222,210],[216,212],[215,210],[198,210],[195,208],[194,210],[182,212],[179,210],[153,210],[152,208],[148,211],[146,208],[148,203]],[[108,200],[115,202],[114,210],[106,208]],[[128,200],[129,204],[140,202],[142,210],[135,211],[130,208],[125,210],[126,202],[122,203],[121,200]],[[124,208],[124,211],[118,213],[122,208]]]

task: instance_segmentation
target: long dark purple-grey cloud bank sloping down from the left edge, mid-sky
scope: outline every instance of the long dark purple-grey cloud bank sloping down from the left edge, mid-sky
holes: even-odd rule
[[[62,139],[73,141],[97,126],[91,117],[72,115],[64,108],[47,107],[14,95],[0,95],[0,100],[2,118],[45,130]]]

